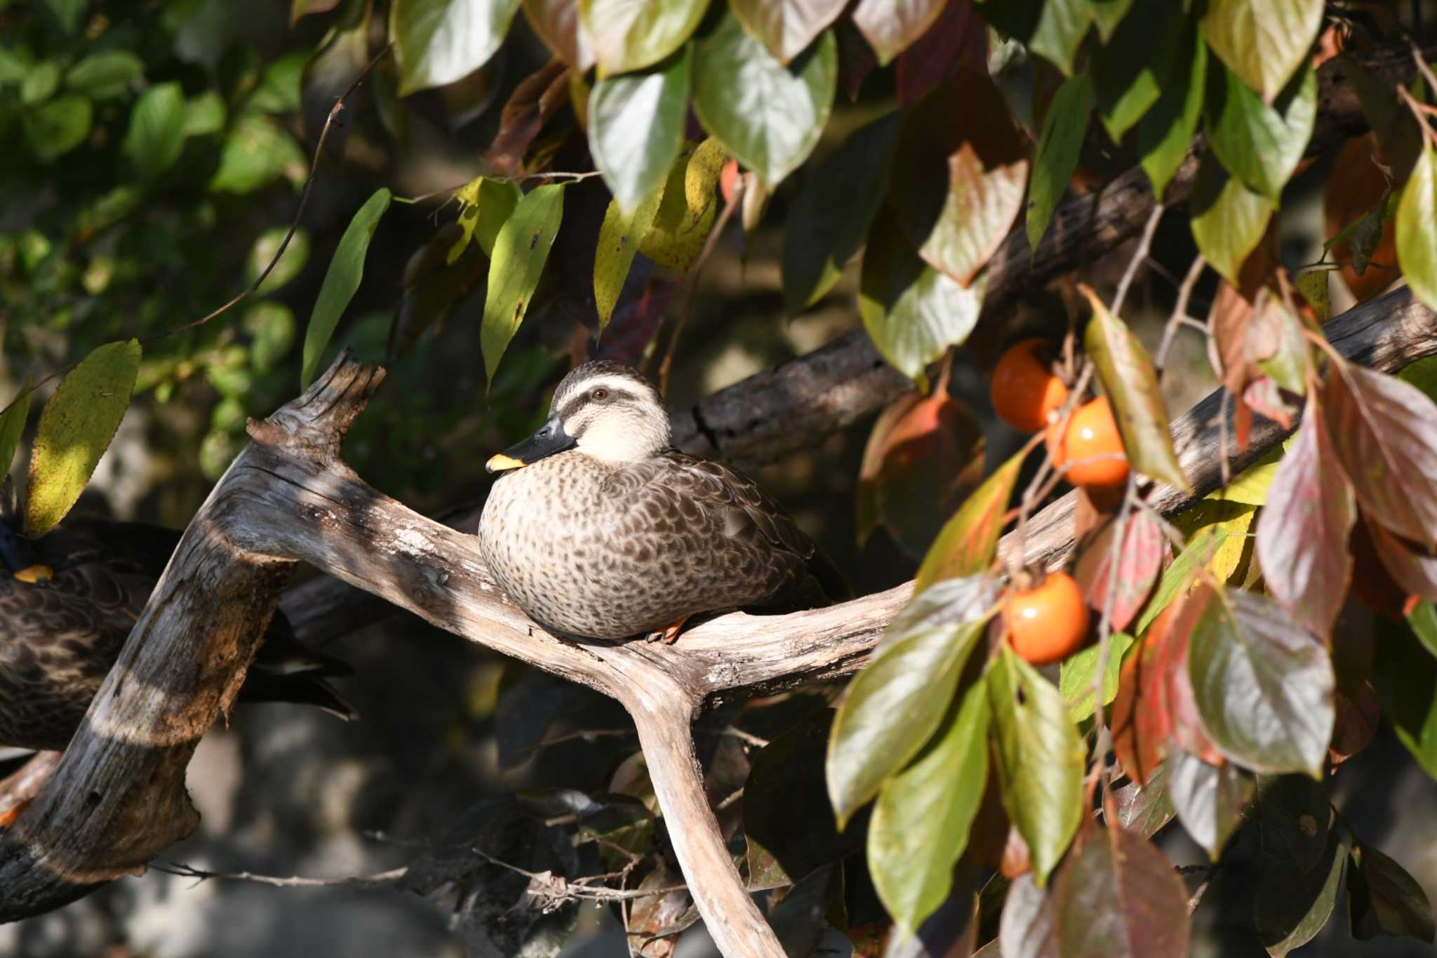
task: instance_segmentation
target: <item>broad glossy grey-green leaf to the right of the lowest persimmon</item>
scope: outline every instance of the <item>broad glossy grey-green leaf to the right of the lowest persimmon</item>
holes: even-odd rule
[[[1181,615],[1193,695],[1217,750],[1255,771],[1321,776],[1335,721],[1326,648],[1250,592],[1204,583]]]

